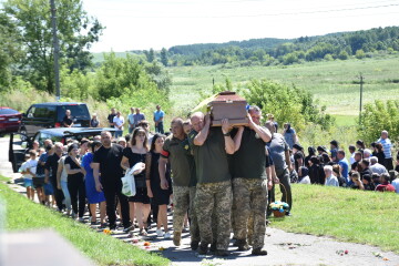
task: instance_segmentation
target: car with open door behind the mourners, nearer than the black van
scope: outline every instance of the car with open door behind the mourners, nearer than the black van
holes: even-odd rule
[[[53,142],[66,143],[69,139],[80,141],[83,137],[91,140],[95,135],[100,135],[102,131],[110,131],[114,134],[115,129],[111,127],[57,127],[39,130],[33,136],[27,136],[21,133],[10,134],[9,162],[12,164],[14,173],[24,162],[24,156],[32,149],[33,142],[38,141],[43,146],[44,140]]]

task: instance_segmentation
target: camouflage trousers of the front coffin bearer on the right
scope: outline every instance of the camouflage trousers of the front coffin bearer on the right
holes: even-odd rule
[[[234,211],[235,237],[237,239],[252,238],[253,248],[262,248],[266,233],[267,181],[234,178],[233,201],[236,206]]]

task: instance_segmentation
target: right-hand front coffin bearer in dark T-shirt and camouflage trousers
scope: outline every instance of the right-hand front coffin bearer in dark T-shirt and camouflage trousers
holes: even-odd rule
[[[232,158],[233,171],[233,218],[235,238],[238,250],[248,250],[247,228],[253,235],[253,255],[267,255],[264,249],[266,233],[267,187],[273,186],[272,176],[266,175],[267,163],[266,143],[272,134],[266,127],[259,126],[262,111],[250,106],[248,111],[249,124],[241,126],[235,134],[236,152]]]

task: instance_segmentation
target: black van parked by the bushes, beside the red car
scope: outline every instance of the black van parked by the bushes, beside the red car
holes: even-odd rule
[[[19,132],[27,136],[33,136],[42,129],[61,127],[66,110],[71,110],[74,127],[90,126],[90,113],[85,103],[35,103],[28,109],[27,113],[22,114]]]

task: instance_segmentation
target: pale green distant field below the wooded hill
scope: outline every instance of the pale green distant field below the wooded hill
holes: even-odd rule
[[[308,62],[287,66],[214,66],[168,68],[173,76],[171,100],[175,110],[190,110],[200,92],[212,90],[212,81],[224,83],[228,76],[234,85],[245,85],[252,79],[270,79],[295,84],[310,91],[327,112],[339,115],[341,125],[355,124],[359,112],[359,73],[365,76],[364,103],[376,99],[399,99],[399,58],[365,59],[332,62]]]

